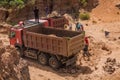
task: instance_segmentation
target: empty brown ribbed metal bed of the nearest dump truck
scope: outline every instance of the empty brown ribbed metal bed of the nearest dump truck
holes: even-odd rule
[[[23,30],[25,47],[64,57],[70,57],[83,49],[84,32],[42,26],[39,24]]]

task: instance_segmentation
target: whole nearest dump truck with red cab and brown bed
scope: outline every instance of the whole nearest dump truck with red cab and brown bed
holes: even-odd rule
[[[76,62],[76,55],[84,47],[85,32],[44,27],[43,23],[12,27],[10,44],[21,56],[39,61],[42,65],[59,68]]]

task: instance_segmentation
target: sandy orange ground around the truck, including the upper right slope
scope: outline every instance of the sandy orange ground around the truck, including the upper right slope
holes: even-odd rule
[[[103,70],[108,57],[115,58],[116,62],[120,63],[120,10],[115,7],[120,0],[99,1],[100,5],[91,12],[91,20],[82,22],[86,36],[89,36],[89,51],[92,55],[90,61],[81,59],[80,54],[77,61],[79,69],[76,74],[70,74],[52,70],[48,66],[43,67],[34,60],[26,59],[31,80],[120,80],[120,67],[115,66],[115,72],[112,74]],[[110,32],[108,38],[104,36],[104,31]],[[9,44],[6,34],[0,33],[0,39],[5,45]]]

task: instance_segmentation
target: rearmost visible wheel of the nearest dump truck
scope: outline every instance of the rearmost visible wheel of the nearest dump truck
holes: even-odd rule
[[[53,69],[58,69],[61,66],[61,62],[58,61],[58,59],[55,56],[52,56],[49,59],[49,65],[53,68]]]

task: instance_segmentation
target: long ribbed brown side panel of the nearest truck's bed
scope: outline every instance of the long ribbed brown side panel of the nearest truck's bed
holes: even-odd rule
[[[68,56],[67,41],[64,38],[26,31],[23,40],[25,47],[55,55]]]

